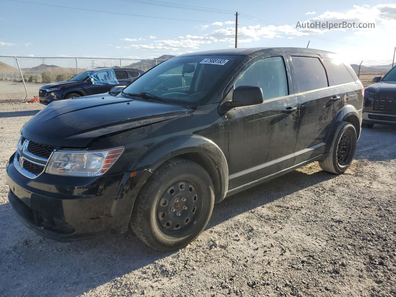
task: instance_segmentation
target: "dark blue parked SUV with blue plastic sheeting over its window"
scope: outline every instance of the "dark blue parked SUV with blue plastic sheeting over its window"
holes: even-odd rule
[[[143,70],[129,68],[87,70],[70,80],[42,86],[38,97],[40,103],[48,105],[52,101],[106,93],[114,86],[130,84],[143,73]]]

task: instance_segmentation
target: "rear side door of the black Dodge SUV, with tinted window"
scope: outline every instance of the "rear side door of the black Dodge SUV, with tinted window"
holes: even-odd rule
[[[325,152],[325,137],[340,109],[340,91],[331,86],[319,55],[288,53],[299,102],[295,161],[299,164]]]

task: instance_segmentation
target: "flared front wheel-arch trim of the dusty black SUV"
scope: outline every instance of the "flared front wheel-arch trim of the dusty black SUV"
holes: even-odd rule
[[[220,184],[220,193],[216,202],[222,201],[228,190],[228,163],[221,148],[206,137],[200,135],[179,135],[161,141],[147,150],[137,160],[133,166],[133,171],[147,170],[152,173],[169,159],[187,153],[199,153],[209,158],[213,163],[219,175]]]

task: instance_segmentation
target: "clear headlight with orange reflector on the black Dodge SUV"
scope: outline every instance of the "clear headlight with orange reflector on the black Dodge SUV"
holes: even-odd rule
[[[46,173],[70,176],[99,176],[105,173],[124,152],[124,147],[109,150],[58,150],[48,161]]]

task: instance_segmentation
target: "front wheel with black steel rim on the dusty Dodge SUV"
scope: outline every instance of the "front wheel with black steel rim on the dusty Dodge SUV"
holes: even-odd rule
[[[208,172],[195,162],[175,158],[162,164],[143,185],[130,225],[148,246],[173,251],[204,230],[214,201]]]

